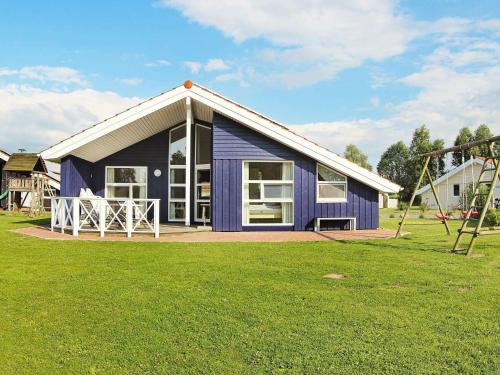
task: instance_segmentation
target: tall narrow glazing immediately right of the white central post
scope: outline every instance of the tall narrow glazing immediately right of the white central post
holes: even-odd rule
[[[195,218],[196,221],[210,221],[212,129],[195,126]]]

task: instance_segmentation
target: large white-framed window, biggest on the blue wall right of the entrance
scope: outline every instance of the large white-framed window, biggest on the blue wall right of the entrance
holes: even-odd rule
[[[243,225],[293,224],[293,163],[243,162]]]

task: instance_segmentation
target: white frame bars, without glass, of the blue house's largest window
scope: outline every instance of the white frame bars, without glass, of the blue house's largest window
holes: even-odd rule
[[[291,180],[245,180],[245,163],[289,163],[292,165]],[[268,227],[268,226],[293,226],[295,225],[295,163],[293,160],[242,160],[241,162],[241,221],[244,227]],[[264,192],[264,185],[291,185],[292,198],[262,198],[245,199],[245,184],[260,184],[261,194]],[[245,203],[291,203],[292,221],[290,223],[245,223]],[[248,215],[246,215],[248,217]]]

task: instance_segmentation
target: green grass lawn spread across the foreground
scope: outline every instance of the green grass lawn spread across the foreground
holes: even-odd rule
[[[445,252],[441,225],[399,240],[280,244],[8,231],[32,224],[0,215],[2,374],[500,369],[497,236],[466,258]],[[345,278],[323,278],[334,272]]]

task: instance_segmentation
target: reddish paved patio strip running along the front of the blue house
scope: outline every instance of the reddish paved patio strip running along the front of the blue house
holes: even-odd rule
[[[161,233],[160,238],[151,234],[134,233],[127,238],[122,233],[106,233],[101,238],[98,233],[80,233],[73,237],[70,233],[51,232],[46,227],[29,227],[14,232],[45,240],[77,240],[77,241],[130,241],[130,242],[296,242],[296,241],[333,241],[333,240],[367,240],[391,238],[396,234],[391,229],[357,230],[357,231],[325,231],[325,232],[209,232],[209,231],[172,231]]]

